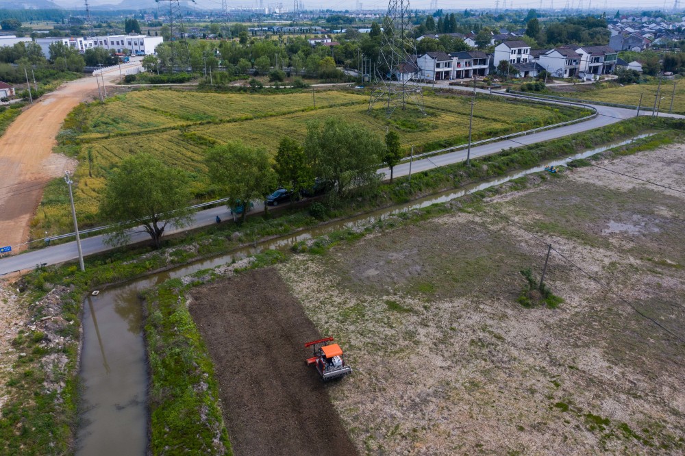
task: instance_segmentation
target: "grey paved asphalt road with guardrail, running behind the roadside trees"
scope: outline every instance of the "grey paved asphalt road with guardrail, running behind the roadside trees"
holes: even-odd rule
[[[473,90],[469,88],[464,88],[464,90]],[[479,90],[479,92],[485,92],[486,90]],[[493,92],[495,94],[495,92]],[[506,96],[506,94],[501,94]],[[536,142],[543,142],[547,140],[553,140],[556,138],[561,138],[562,136],[569,136],[571,134],[579,133],[580,131],[587,131],[590,129],[603,127],[604,125],[609,125],[622,121],[626,118],[630,118],[636,115],[634,110],[627,110],[617,107],[607,107],[601,105],[593,105],[597,109],[598,115],[590,119],[589,121],[584,121],[580,123],[575,123],[573,125],[566,125],[564,127],[559,127],[555,129],[540,131],[535,134],[530,134],[527,136],[519,136],[513,138],[512,140],[503,140],[499,142],[492,142],[490,144],[484,144],[482,146],[471,148],[471,157],[482,157],[484,155],[491,155],[493,153],[498,153],[504,149],[509,149],[510,147],[521,147],[527,144],[534,144]],[[477,108],[476,108],[477,109]],[[644,113],[645,115],[650,115],[651,113]],[[671,116],[669,114],[660,114],[664,116]],[[684,118],[685,116],[675,116]],[[412,163],[412,173],[417,173],[419,171],[428,170],[435,168],[437,166],[444,166],[447,164],[453,164],[458,162],[463,162],[466,160],[466,149],[461,151],[456,151],[452,153],[445,153],[443,155],[438,155],[436,157],[429,157],[422,160],[414,160]],[[382,168],[378,170],[378,173],[389,174],[387,168]],[[395,177],[400,177],[409,174],[409,163],[403,162],[395,166],[394,175]],[[253,209],[254,212],[259,212],[263,210],[262,203],[256,203]],[[167,234],[177,233],[179,231],[185,231],[187,229],[194,229],[198,227],[212,225],[215,222],[216,216],[219,216],[222,220],[229,220],[232,218],[229,210],[226,206],[214,207],[208,210],[202,210],[195,214],[193,223],[190,227],[177,230],[169,229],[166,231]],[[133,233],[131,242],[141,242],[149,240],[149,236],[144,231],[137,231]],[[0,242],[1,239],[0,239]],[[92,238],[86,238],[82,240],[82,249],[84,255],[92,255],[93,253],[100,253],[111,249],[110,246],[105,244],[104,236],[93,236]],[[8,273],[13,273],[18,270],[32,269],[35,268],[37,264],[58,264],[73,259],[77,259],[78,252],[76,247],[76,242],[68,242],[66,244],[60,244],[55,246],[46,247],[45,249],[39,249],[36,251],[28,251],[21,253],[19,255],[14,255],[10,257],[5,257],[0,259],[0,276]]]

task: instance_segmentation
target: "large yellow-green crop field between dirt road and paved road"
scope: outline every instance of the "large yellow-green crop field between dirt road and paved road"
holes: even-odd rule
[[[197,199],[206,199],[214,195],[203,156],[214,144],[240,140],[275,153],[282,138],[303,140],[308,123],[338,116],[364,125],[379,136],[384,136],[386,129],[395,129],[407,154],[412,146],[429,151],[468,140],[470,100],[463,96],[427,96],[426,116],[408,109],[396,110],[388,119],[383,107],[369,112],[368,95],[341,90],[315,94],[144,90],[117,95],[106,103],[87,107],[77,122],[82,130],[73,151],[79,160],[74,179],[79,224],[99,225],[97,207],[108,174],[123,158],[135,153],[152,153],[188,171]],[[473,114],[473,140],[586,114],[569,107],[479,97]],[[66,124],[73,128],[75,122]],[[46,188],[32,223],[36,238],[44,237],[45,231],[53,235],[71,229],[63,186],[62,179],[58,179]]]

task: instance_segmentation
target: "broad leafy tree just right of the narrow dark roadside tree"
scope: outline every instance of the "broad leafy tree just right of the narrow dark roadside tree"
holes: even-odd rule
[[[385,146],[361,125],[335,117],[310,123],[304,147],[314,173],[329,181],[338,197],[378,181],[375,168]]]

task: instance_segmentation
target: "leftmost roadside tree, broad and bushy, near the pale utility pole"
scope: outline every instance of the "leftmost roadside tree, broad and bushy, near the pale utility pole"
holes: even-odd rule
[[[114,225],[108,242],[122,244],[128,230],[142,225],[155,248],[167,225],[185,227],[192,221],[189,181],[182,170],[166,166],[147,153],[124,159],[110,177],[100,213]]]

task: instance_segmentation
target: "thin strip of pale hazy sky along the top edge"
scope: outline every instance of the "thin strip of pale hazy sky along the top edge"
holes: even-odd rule
[[[88,3],[91,5],[101,5],[101,4],[116,4],[119,3],[121,0],[89,0]],[[573,8],[578,8],[579,6],[582,5],[582,8],[585,10],[588,8],[588,6],[594,8],[600,8],[603,9],[604,5],[606,5],[607,10],[614,11],[615,10],[621,10],[621,9],[627,9],[627,8],[633,8],[633,9],[640,9],[640,10],[662,10],[664,8],[664,5],[667,9],[667,11],[670,11],[671,8],[673,8],[673,0],[667,0],[666,3],[663,1],[658,1],[658,0],[543,0],[542,2],[535,1],[535,0],[500,0],[499,5],[500,8],[504,4],[504,1],[506,1],[506,7],[507,8],[516,8],[516,9],[530,9],[530,8],[540,8],[540,5],[542,6],[543,9],[547,8],[554,8],[554,9],[561,9],[568,4],[569,6],[573,5]],[[335,10],[355,10],[357,8],[357,0],[344,0],[344,1],[338,1],[338,0],[328,0],[328,1],[308,1],[304,0],[304,5],[306,9],[318,9],[318,8],[332,8]],[[1,0],[0,0],[0,3]],[[55,3],[58,3],[59,5],[62,5],[64,8],[82,8],[83,7],[83,1],[73,1],[73,0],[55,0]],[[162,1],[160,4],[164,4],[166,2]],[[262,4],[264,6],[273,6],[275,5],[277,0],[262,0]],[[281,3],[283,3],[283,7],[286,10],[291,10],[292,9],[292,0],[282,0]],[[361,0],[362,6],[364,10],[366,9],[385,9],[388,7],[388,1],[378,1],[378,0]],[[681,0],[681,3],[683,4],[682,9],[685,9],[685,0]],[[155,8],[156,3],[154,0],[140,0],[139,1],[140,7],[141,8]],[[412,1],[411,2],[411,7],[416,8],[416,9],[429,9],[430,8],[430,0],[423,0],[423,1]],[[258,5],[258,0],[252,0],[252,1],[228,1],[228,7],[229,8],[243,8],[243,7],[250,7],[250,6],[256,6]],[[215,9],[221,9],[221,0],[197,0],[197,6],[198,8],[215,8]],[[495,0],[485,0],[485,1],[480,1],[480,0],[464,0],[464,1],[447,1],[447,0],[438,0],[438,8],[443,8],[445,10],[462,10],[464,8],[495,8]],[[685,15],[685,13],[684,13]]]

